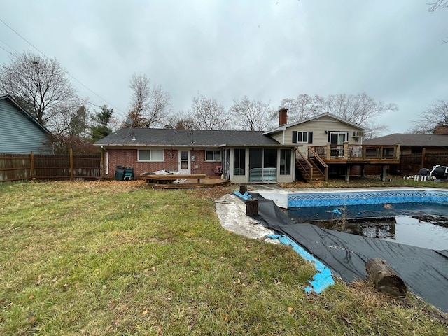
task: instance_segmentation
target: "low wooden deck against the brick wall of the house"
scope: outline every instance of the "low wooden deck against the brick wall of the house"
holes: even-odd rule
[[[211,188],[214,186],[226,186],[230,181],[210,178],[206,174],[178,174],[178,175],[142,175],[148,186],[159,189],[182,188]],[[174,183],[179,180],[180,183]]]

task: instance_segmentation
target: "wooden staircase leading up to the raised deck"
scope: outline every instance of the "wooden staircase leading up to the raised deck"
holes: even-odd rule
[[[308,148],[310,157],[307,158],[299,149],[296,149],[295,155],[295,179],[302,179],[308,183],[314,183],[318,181],[328,181],[328,165],[323,162],[312,148]],[[317,163],[317,162],[318,163]],[[322,170],[318,167],[318,164],[323,167]]]

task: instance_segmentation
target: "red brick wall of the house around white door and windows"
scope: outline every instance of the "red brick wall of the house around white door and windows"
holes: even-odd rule
[[[145,172],[155,172],[158,170],[177,171],[177,150],[164,150],[164,162],[137,162],[137,149],[108,149],[109,153],[109,174],[106,178],[115,176],[116,166],[131,167],[134,169],[134,176]],[[190,162],[191,174],[207,174],[207,176],[216,176],[216,166],[221,166],[221,162],[205,162],[205,150],[193,150],[191,155],[195,156],[195,161]],[[106,154],[104,155],[104,167],[106,167]],[[196,168],[196,166],[198,166]],[[106,171],[104,172],[106,173]]]

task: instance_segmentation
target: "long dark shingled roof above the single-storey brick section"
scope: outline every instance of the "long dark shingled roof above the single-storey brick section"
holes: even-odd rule
[[[134,140],[133,140],[134,139]],[[261,131],[162,130],[122,128],[94,143],[95,146],[281,146]]]

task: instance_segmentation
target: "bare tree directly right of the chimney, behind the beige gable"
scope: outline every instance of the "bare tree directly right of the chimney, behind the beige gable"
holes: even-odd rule
[[[299,94],[297,99],[286,98],[281,101],[281,106],[288,109],[288,121],[290,123],[301,121],[322,111],[323,98],[317,94],[314,97],[308,94]]]

